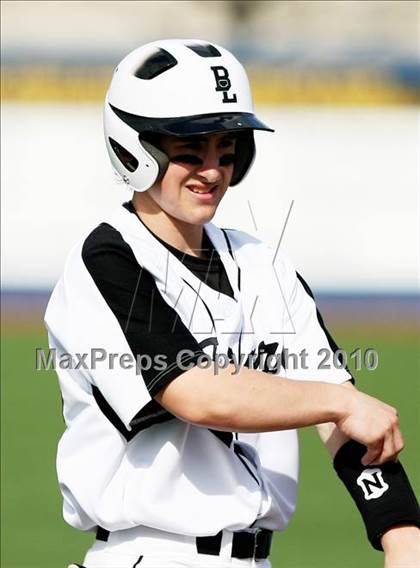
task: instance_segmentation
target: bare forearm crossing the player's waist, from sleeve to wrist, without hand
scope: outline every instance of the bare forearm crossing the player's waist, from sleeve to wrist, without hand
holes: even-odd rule
[[[339,385],[293,381],[254,369],[191,369],[157,399],[169,411],[200,426],[232,432],[268,432],[335,422],[347,404]]]

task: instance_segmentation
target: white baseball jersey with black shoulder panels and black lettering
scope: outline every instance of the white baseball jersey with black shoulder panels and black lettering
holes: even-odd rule
[[[290,263],[246,233],[211,223],[205,233],[230,295],[198,278],[124,207],[71,251],[54,289],[46,325],[67,426],[57,469],[64,517],[76,528],[145,525],[206,536],[282,530],[293,514],[296,431],[216,432],[175,418],[153,398],[203,361],[296,380],[351,379],[345,369],[319,368],[321,350],[336,346]],[[112,262],[117,253],[121,265]]]

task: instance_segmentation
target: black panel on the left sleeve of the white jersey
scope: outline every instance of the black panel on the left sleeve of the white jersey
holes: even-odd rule
[[[150,395],[155,396],[197,359],[201,348],[118,231],[100,226],[85,241],[82,258],[141,365]],[[183,350],[194,355],[183,358],[181,366],[178,354]]]

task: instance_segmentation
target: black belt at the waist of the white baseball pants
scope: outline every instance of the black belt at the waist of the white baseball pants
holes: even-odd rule
[[[257,529],[256,532],[233,533],[233,558],[254,558],[264,560],[270,554],[273,532],[266,529]],[[199,554],[219,556],[222,545],[222,532],[215,536],[198,536],[196,539]]]

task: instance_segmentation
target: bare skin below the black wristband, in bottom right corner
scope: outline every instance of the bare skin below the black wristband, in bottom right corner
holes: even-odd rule
[[[399,525],[385,532],[381,539],[385,552],[385,568],[418,568],[420,566],[420,529]]]

